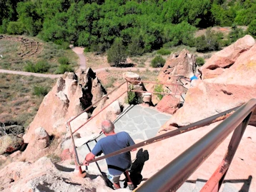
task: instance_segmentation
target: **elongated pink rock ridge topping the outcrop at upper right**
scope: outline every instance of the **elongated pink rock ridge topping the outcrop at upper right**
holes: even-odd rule
[[[237,58],[255,44],[252,36],[246,35],[234,44],[213,55],[201,68],[202,79],[211,79],[224,73]]]

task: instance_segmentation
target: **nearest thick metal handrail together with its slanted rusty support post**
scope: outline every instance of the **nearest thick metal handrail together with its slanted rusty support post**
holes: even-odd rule
[[[222,121],[222,123],[197,141],[197,143],[189,147],[172,162],[168,163],[167,166],[164,166],[164,168],[154,174],[154,176],[149,178],[135,191],[176,191],[200,164],[215,151],[217,146],[235,130],[228,146],[227,155],[215,171],[215,174],[210,178],[210,183],[207,183],[202,188],[202,191],[212,191],[216,188],[218,191],[255,107],[256,99],[252,98],[238,108],[230,117],[226,118],[225,121]]]

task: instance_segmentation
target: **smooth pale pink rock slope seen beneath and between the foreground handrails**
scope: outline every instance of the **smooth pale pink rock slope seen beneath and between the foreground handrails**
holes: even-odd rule
[[[212,130],[218,123],[212,123],[210,126],[205,126],[202,128],[189,131],[187,133],[182,133],[178,136],[172,138],[167,138],[163,141],[159,141],[149,146],[144,146],[144,150],[149,152],[149,161],[146,161],[144,168],[142,170],[142,175],[144,178],[150,178],[154,173],[159,171],[161,168],[167,165],[179,156],[183,151],[185,151],[189,146],[192,146],[197,142],[202,136]],[[228,136],[225,141],[220,143],[220,146],[210,155],[204,163],[192,173],[189,177],[191,180],[208,180],[210,176],[215,172],[217,166],[222,162],[223,157],[227,151],[228,143],[230,142],[232,134]],[[248,179],[252,176],[252,181],[250,183],[250,191],[256,191],[256,181],[253,179],[256,176],[256,155],[255,155],[255,127],[247,126],[245,133],[242,137],[235,157],[232,160],[230,169],[227,171],[227,176],[225,180],[243,180]],[[234,191],[240,191],[242,189],[242,184],[237,183],[239,186],[234,186]],[[191,190],[192,191],[192,190]]]

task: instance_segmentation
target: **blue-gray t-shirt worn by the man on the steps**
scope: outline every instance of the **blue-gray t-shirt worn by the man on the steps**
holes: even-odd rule
[[[107,155],[127,146],[134,145],[134,141],[127,132],[119,132],[117,134],[101,138],[92,149],[94,156],[99,156],[102,152]],[[132,164],[131,153],[121,153],[106,159],[109,173],[113,176],[121,175]]]

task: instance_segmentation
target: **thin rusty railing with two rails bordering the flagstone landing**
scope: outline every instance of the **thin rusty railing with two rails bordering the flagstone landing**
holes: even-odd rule
[[[177,95],[177,87],[178,86],[181,86],[179,84],[168,84],[168,83],[156,83],[156,82],[152,82],[152,81],[134,81],[134,80],[129,80],[127,81],[127,79],[125,79],[126,81],[124,81],[122,84],[120,84],[119,86],[117,86],[117,88],[115,88],[114,90],[112,90],[111,92],[109,92],[109,94],[112,94],[114,91],[117,91],[117,89],[119,89],[121,86],[123,86],[124,84],[127,84],[127,90],[124,91],[122,94],[119,94],[119,96],[117,96],[117,98],[115,98],[113,101],[109,102],[109,104],[107,104],[107,106],[104,106],[104,108],[102,108],[98,113],[96,113],[94,116],[91,116],[86,122],[84,122],[81,126],[79,126],[79,128],[77,128],[76,130],[72,131],[72,127],[71,127],[71,122],[74,121],[74,119],[76,119],[77,117],[79,117],[80,115],[82,115],[82,113],[85,113],[87,112],[90,108],[92,108],[93,106],[95,106],[95,104],[99,103],[99,101],[102,101],[102,99],[106,98],[107,96],[109,96],[109,94],[103,96],[102,98],[100,98],[98,101],[96,101],[95,103],[92,103],[91,106],[87,107],[86,109],[84,109],[84,111],[82,111],[82,113],[79,113],[77,116],[74,116],[74,118],[72,119],[69,119],[67,121],[67,128],[69,130],[69,133],[70,133],[70,136],[71,136],[71,139],[72,139],[72,147],[73,147],[73,151],[74,151],[74,158],[75,158],[75,164],[77,166],[77,168],[79,169],[79,173],[82,175],[82,163],[79,163],[79,157],[78,157],[78,154],[77,154],[77,148],[75,146],[75,143],[74,143],[74,137],[73,137],[73,134],[76,133],[80,128],[82,128],[83,126],[85,126],[89,121],[92,121],[93,118],[95,118],[97,115],[99,115],[99,113],[101,113],[102,111],[104,111],[105,108],[107,108],[109,105],[111,105],[114,101],[116,101],[118,98],[120,98],[122,95],[124,95],[125,93],[128,94],[128,91],[134,91],[134,92],[139,92],[139,91],[136,91],[136,90],[129,90],[129,83],[130,82],[142,82],[142,83],[151,83],[151,84],[164,84],[164,85],[172,85],[172,86],[175,86],[175,91],[174,91],[174,94],[172,93],[159,93],[159,92],[155,92],[156,94],[170,94],[170,95],[174,95],[176,96]],[[143,92],[147,92],[147,93],[154,93],[154,92],[149,92],[149,91],[143,91]],[[181,93],[179,93],[181,94]]]

